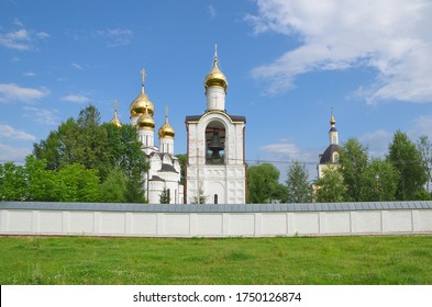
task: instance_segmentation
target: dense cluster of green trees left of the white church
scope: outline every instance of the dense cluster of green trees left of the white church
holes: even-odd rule
[[[34,144],[24,166],[0,164],[0,201],[144,203],[147,170],[135,127],[101,123],[89,105]]]

